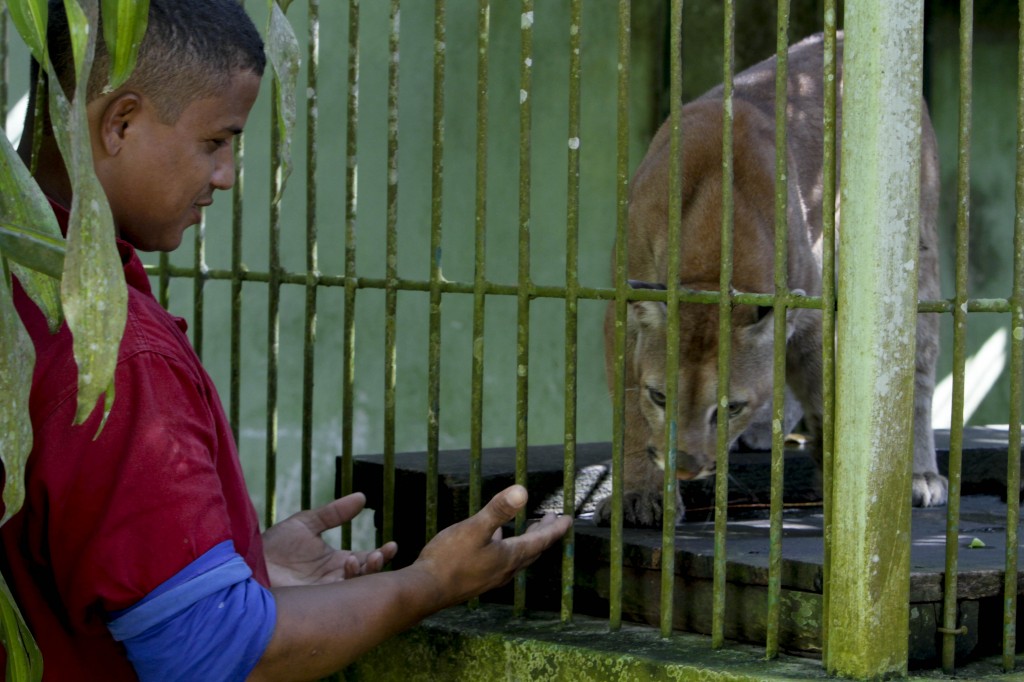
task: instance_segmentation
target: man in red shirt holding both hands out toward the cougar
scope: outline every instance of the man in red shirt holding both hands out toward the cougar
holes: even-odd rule
[[[62,2],[49,11],[50,53],[70,92]],[[113,91],[109,63],[98,41],[87,111],[129,296],[117,402],[98,438],[99,410],[72,425],[71,333],[50,335],[15,291],[37,351],[34,446],[25,507],[0,527],[0,566],[46,679],[317,679],[507,582],[560,538],[570,519],[549,516],[501,539],[501,524],[525,505],[521,486],[391,572],[378,571],[393,543],[350,553],[321,540],[361,510],[359,494],[260,535],[216,390],[183,321],[153,298],[135,250],[177,248],[214,190],[231,186],[230,141],[259,90],[262,42],[234,0],[151,0],[135,72]],[[66,226],[68,173],[51,131],[40,143],[36,179]],[[24,157],[29,150],[26,139]]]

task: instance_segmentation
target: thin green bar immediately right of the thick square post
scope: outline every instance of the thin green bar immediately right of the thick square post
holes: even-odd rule
[[[964,453],[964,390],[967,367],[968,229],[971,224],[971,101],[974,3],[961,0],[959,126],[956,139],[956,255],[953,294],[952,414],[949,420],[949,497],[946,501],[946,563],[942,598],[942,670],[952,675],[956,655],[956,565],[959,559],[961,481]]]

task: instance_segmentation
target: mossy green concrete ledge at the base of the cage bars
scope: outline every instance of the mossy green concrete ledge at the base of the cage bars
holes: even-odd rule
[[[1018,656],[1018,670],[1024,657]],[[959,679],[1020,680],[1002,674],[998,660],[957,669]],[[934,675],[934,674],[933,674]],[[480,680],[572,680],[645,682],[765,682],[828,679],[821,663],[795,656],[764,659],[761,647],[728,644],[711,648],[699,635],[623,624],[608,631],[607,621],[574,616],[563,626],[556,614],[512,616],[508,606],[450,608],[367,653],[342,674],[352,682],[478,682]],[[922,682],[948,679],[915,675]]]

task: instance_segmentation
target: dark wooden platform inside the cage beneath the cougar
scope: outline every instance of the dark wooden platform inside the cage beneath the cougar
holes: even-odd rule
[[[939,468],[945,473],[948,435],[936,432]],[[610,491],[607,471],[608,443],[586,443],[577,449],[574,608],[606,616],[608,612],[609,530],[593,524],[589,513]],[[563,447],[534,446],[527,453],[527,515],[561,511]],[[340,461],[340,460],[339,460]],[[426,504],[426,454],[395,456],[395,534],[403,565],[415,559],[424,543]],[[961,552],[957,600],[959,625],[968,633],[957,639],[963,662],[991,653],[1001,641],[1002,574],[1006,559],[1007,431],[999,427],[968,429],[963,460]],[[763,643],[768,582],[769,499],[768,453],[733,453],[730,456],[730,510],[726,551],[726,636]],[[483,453],[482,500],[512,483],[515,450]],[[340,467],[339,467],[340,470]],[[820,653],[822,509],[816,504],[817,473],[810,458],[799,449],[785,455],[786,505],[782,542],[782,623],[780,644],[805,655]],[[356,458],[354,488],[367,495],[381,527],[383,457]],[[340,481],[339,481],[340,489]],[[714,547],[714,479],[680,483],[686,520],[676,532],[674,627],[711,632],[712,557]],[[438,526],[465,518],[469,507],[469,452],[447,451],[438,456]],[[914,509],[912,517],[910,585],[911,665],[934,665],[940,640],[942,583],[945,566],[945,508]],[[973,540],[984,543],[972,549]],[[624,534],[623,614],[628,620],[656,625],[659,621],[662,534],[627,529]],[[976,543],[977,544],[977,543]],[[1024,555],[1019,553],[1024,567]],[[527,599],[532,607],[558,610],[561,556],[549,552],[530,569]],[[1018,574],[1024,591],[1024,573]],[[497,600],[508,593],[493,595]],[[1024,624],[1022,619],[1019,622]],[[1019,625],[1020,629],[1020,625]]]

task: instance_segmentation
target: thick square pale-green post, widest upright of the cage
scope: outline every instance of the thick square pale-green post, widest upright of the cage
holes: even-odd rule
[[[907,670],[923,13],[846,5],[826,669],[857,678]]]

